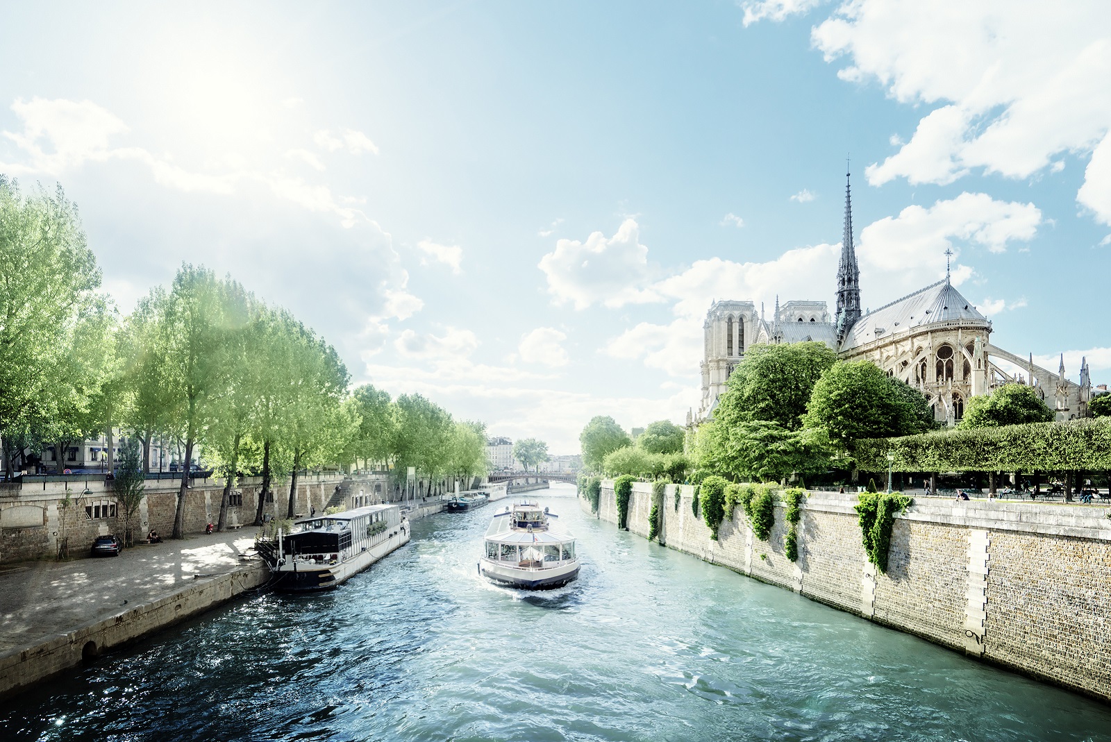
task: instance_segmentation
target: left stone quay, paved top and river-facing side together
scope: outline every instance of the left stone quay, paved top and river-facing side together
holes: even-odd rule
[[[256,529],[0,571],[0,696],[267,582]]]

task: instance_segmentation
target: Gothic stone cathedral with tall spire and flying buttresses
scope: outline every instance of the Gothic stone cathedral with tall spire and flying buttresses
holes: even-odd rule
[[[948,253],[951,254],[951,253]],[[991,344],[991,322],[945,279],[867,313],[852,240],[852,202],[845,176],[844,234],[837,271],[837,311],[824,301],[788,301],[771,321],[751,301],[714,301],[705,315],[702,402],[695,418],[713,413],[729,374],[753,343],[823,342],[844,361],[868,360],[921,391],[938,421],[955,424],[968,400],[1008,383],[1029,384],[1058,420],[1088,417],[1091,379],[1081,361],[1080,383]],[[997,365],[1002,361],[1007,369]]]

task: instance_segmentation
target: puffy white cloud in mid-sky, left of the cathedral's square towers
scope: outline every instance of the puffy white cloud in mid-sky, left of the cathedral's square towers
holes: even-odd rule
[[[540,259],[539,268],[556,301],[570,301],[575,309],[652,299],[642,291],[651,271],[634,219],[625,219],[611,238],[593,232],[585,242],[559,240],[556,250]]]

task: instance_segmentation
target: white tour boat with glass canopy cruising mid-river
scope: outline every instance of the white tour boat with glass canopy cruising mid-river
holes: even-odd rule
[[[534,502],[514,502],[494,515],[479,572],[493,582],[527,590],[559,588],[579,576],[574,538],[552,528],[550,518],[557,515]]]

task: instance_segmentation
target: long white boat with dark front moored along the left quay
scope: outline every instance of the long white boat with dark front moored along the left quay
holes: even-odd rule
[[[399,505],[370,505],[297,521],[269,550],[274,588],[327,590],[409,543],[409,519]]]

